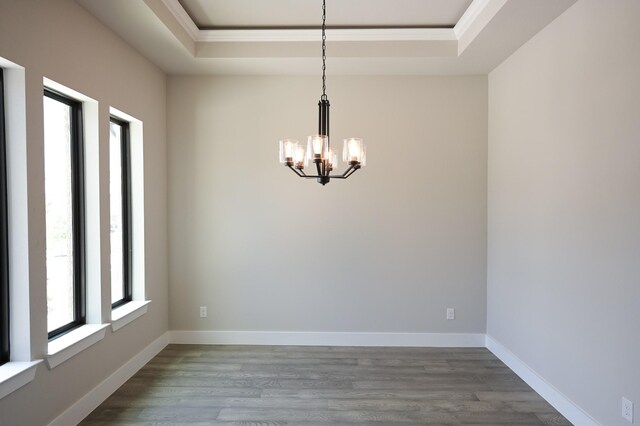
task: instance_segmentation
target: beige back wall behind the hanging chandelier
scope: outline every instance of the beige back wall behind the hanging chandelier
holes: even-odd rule
[[[334,145],[369,166],[326,187],[277,151],[320,89],[169,78],[170,328],[484,333],[486,77],[329,76]]]

